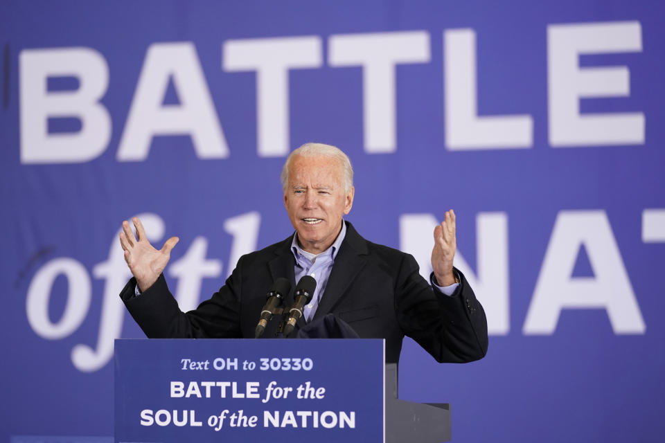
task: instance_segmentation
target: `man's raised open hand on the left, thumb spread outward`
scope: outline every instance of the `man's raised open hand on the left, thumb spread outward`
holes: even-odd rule
[[[136,277],[139,289],[145,291],[157,281],[159,274],[166,268],[166,264],[171,257],[171,249],[180,239],[170,237],[166,240],[164,246],[157,251],[148,242],[141,220],[134,217],[132,221],[134,227],[136,227],[136,237],[132,233],[129,221],[125,220],[123,221],[123,232],[120,233],[120,244],[123,246],[123,251],[125,251],[125,262],[127,262],[127,266],[130,266],[130,271]]]

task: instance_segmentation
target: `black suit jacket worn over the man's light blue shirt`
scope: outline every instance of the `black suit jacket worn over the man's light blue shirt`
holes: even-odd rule
[[[289,278],[295,287],[292,239],[240,257],[226,284],[193,311],[180,311],[163,275],[139,297],[132,278],[121,298],[150,338],[252,338],[274,280]],[[481,359],[488,346],[485,312],[457,273],[459,287],[445,296],[418,273],[414,257],[368,242],[346,221],[346,237],[313,320],[332,313],[361,338],[385,338],[387,363],[398,361],[405,335],[440,362]],[[285,298],[287,306],[292,302],[293,290]],[[276,323],[269,323],[265,337],[275,335]]]

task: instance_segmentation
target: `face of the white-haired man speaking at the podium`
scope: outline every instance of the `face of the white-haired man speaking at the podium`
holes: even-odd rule
[[[353,188],[344,192],[344,169],[338,159],[292,159],[284,206],[301,248],[318,254],[335,242],[342,229],[342,216],[351,211],[353,192]]]

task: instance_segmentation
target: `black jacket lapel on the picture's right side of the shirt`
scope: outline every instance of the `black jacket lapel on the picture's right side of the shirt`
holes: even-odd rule
[[[367,245],[364,238],[356,232],[353,225],[346,221],[346,237],[335,257],[335,264],[328,278],[326,291],[321,297],[319,307],[314,313],[314,320],[326,316],[335,307],[346,292],[356,275],[366,264]]]

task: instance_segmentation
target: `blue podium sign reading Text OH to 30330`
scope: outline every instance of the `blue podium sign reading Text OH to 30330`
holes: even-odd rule
[[[383,442],[382,340],[116,340],[115,442]]]

